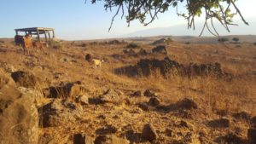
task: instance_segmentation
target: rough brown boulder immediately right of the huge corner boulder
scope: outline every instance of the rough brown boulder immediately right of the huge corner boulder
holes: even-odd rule
[[[75,123],[83,115],[83,107],[71,101],[55,99],[38,109],[40,125],[55,127]]]

